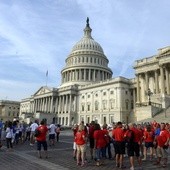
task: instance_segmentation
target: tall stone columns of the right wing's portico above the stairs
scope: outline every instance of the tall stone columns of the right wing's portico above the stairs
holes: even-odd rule
[[[158,69],[136,74],[137,103],[146,100],[148,89],[154,94],[170,95],[170,70],[168,65],[160,65]]]

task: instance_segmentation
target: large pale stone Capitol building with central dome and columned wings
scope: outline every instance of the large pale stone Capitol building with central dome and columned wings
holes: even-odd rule
[[[20,118],[71,126],[142,121],[170,107],[170,47],[134,61],[134,78],[112,78],[109,60],[92,37],[89,19],[61,71],[59,87],[43,86],[20,104]]]

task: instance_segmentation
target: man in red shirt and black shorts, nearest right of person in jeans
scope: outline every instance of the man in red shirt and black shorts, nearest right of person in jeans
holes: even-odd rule
[[[122,122],[117,123],[116,129],[112,131],[115,140],[116,167],[123,168],[123,155],[125,154],[124,131]]]

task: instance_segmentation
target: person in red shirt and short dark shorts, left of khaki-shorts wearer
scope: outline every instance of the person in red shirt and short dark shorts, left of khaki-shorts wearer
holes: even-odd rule
[[[146,131],[144,131],[143,134],[143,138],[144,138],[144,142],[145,142],[145,147],[144,147],[144,158],[142,160],[146,160],[146,156],[147,156],[147,150],[150,148],[150,160],[152,160],[153,158],[153,147],[154,147],[154,138],[155,138],[155,134],[154,134],[154,130],[152,129],[151,125],[148,125],[146,127]]]

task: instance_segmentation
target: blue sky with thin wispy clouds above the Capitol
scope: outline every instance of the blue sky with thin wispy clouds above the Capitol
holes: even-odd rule
[[[169,0],[0,0],[0,100],[21,101],[46,83],[59,87],[87,17],[113,78],[134,78],[135,60],[170,45],[169,6]]]

